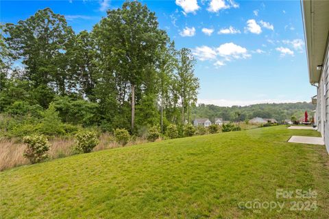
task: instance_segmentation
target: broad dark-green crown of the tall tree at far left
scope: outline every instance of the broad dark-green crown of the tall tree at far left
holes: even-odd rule
[[[6,24],[5,31],[10,49],[26,66],[25,77],[35,87],[51,86],[63,94],[69,79],[68,49],[74,36],[64,16],[45,8],[16,25]]]

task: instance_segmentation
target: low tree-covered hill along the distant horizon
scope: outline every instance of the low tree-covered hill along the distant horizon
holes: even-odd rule
[[[313,116],[312,110],[315,106],[312,103],[299,102],[299,103],[260,103],[254,105],[232,106],[232,107],[219,107],[217,105],[199,104],[191,107],[191,119],[194,118],[210,118],[213,120],[215,117],[222,117],[223,120],[236,121],[236,112],[239,112],[239,120],[249,120],[256,116],[262,118],[275,118],[278,121],[290,119],[291,116],[301,118],[307,110],[309,118]]]

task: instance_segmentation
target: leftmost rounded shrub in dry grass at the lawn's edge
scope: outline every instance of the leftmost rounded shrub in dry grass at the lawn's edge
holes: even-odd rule
[[[45,136],[26,136],[23,142],[27,144],[23,155],[27,157],[32,164],[42,162],[47,159],[49,151],[48,140]]]

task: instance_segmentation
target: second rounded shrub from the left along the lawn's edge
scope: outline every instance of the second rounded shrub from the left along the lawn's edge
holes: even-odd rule
[[[80,131],[75,135],[75,150],[79,153],[93,151],[98,143],[99,140],[93,131]]]

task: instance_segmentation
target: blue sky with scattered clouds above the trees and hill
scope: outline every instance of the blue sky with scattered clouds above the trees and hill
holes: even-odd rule
[[[197,58],[199,103],[249,105],[310,101],[300,1],[142,1],[178,49]],[[123,1],[0,1],[1,23],[46,7],[76,32],[90,31]]]

